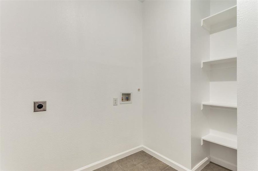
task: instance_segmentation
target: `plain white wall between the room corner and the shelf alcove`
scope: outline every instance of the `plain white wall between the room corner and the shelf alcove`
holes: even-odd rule
[[[143,2],[143,97],[143,145],[190,169],[190,1]]]

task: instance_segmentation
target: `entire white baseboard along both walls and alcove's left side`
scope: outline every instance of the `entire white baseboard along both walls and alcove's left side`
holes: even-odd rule
[[[133,153],[136,153],[138,151],[141,151],[141,150],[149,153],[150,155],[154,156],[155,158],[161,160],[162,162],[168,164],[169,166],[171,166],[172,168],[175,168],[178,171],[200,171],[202,168],[204,168],[204,166],[206,166],[210,162],[210,158],[205,158],[199,164],[197,164],[192,170],[190,170],[190,169],[188,169],[188,168],[178,164],[177,162],[174,162],[173,160],[170,160],[169,158],[167,158],[167,157],[165,157],[165,156],[155,152],[154,150],[151,150],[150,148],[141,145],[141,146],[137,146],[135,148],[132,148],[130,150],[121,152],[119,154],[116,154],[114,156],[110,156],[110,157],[105,158],[103,160],[100,160],[98,162],[89,164],[87,166],[84,166],[84,167],[79,168],[79,169],[74,170],[74,171],[92,171],[92,170],[95,170],[97,168],[105,166],[105,165],[107,165],[109,163],[117,161],[117,160],[119,160],[121,158],[129,156],[129,155],[131,155]]]

